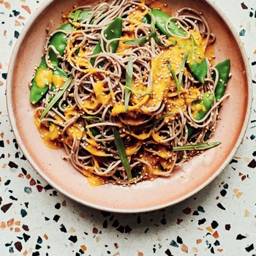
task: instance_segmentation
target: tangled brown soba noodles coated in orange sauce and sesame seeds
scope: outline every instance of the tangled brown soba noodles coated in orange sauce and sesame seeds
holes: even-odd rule
[[[157,30],[160,41],[168,45],[162,48],[151,38],[142,45],[127,45],[124,41],[151,34],[151,24],[143,23],[143,17],[150,11],[140,1],[102,1],[94,8],[79,7],[80,10],[94,10],[92,15],[80,23],[68,19],[75,26],[67,34],[67,48],[61,59],[61,69],[72,75],[72,82],[59,100],[58,107],[50,109],[39,120],[54,97],[57,88],[49,90],[41,100],[35,117],[36,124],[45,143],[52,148],[64,147],[67,159],[76,170],[89,178],[92,186],[99,184],[136,184],[138,181],[154,180],[159,176],[170,176],[176,165],[189,161],[201,151],[173,151],[174,146],[187,143],[201,143],[217,125],[219,102],[214,104],[206,116],[197,121],[192,112],[199,111],[195,100],[202,99],[205,92],[214,93],[218,71],[211,67],[206,58],[208,72],[204,83],[200,83],[189,69],[184,69],[180,95],[176,83],[167,68],[167,59],[178,74],[187,50],[181,47],[194,37],[198,46],[198,58],[204,56],[206,47],[214,43],[214,34],[202,13],[189,8],[176,12],[171,20],[187,33],[187,37],[167,39]],[[122,34],[116,53],[112,53],[111,40],[104,31],[116,18],[123,19]],[[53,34],[58,31],[53,32]],[[50,38],[49,38],[50,39]],[[49,42],[48,39],[48,42]],[[101,40],[102,52],[93,56]],[[50,48],[45,45],[46,59]],[[105,42],[105,48],[103,43]],[[53,49],[51,47],[51,49]],[[106,49],[106,50],[105,50]],[[53,49],[58,54],[56,49]],[[128,111],[125,108],[126,71],[132,56],[132,90]],[[91,58],[96,58],[94,66]],[[188,60],[189,61],[189,60]],[[100,63],[104,65],[99,65]],[[53,69],[48,63],[49,69]],[[216,79],[211,78],[212,72]],[[49,85],[50,89],[50,85]],[[146,91],[148,94],[143,94]],[[188,125],[196,128],[188,138]],[[127,159],[132,170],[132,179],[122,164],[115,144],[113,128],[116,127],[125,146]],[[211,136],[210,135],[210,136]]]

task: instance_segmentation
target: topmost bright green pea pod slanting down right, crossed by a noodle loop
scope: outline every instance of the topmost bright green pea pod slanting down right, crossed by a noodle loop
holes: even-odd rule
[[[170,19],[170,15],[167,15],[167,13],[157,9],[152,9],[151,13],[152,15],[154,15],[154,18],[156,19],[157,29],[159,29],[159,31],[161,31],[162,34],[165,34],[167,37],[170,37],[169,32],[167,31],[167,29],[165,29],[165,24],[167,23],[167,20]],[[170,32],[172,32],[176,36],[179,36],[179,37],[187,36],[187,33],[183,29],[178,27],[178,25],[176,24],[176,20],[170,20],[168,29],[170,30]]]

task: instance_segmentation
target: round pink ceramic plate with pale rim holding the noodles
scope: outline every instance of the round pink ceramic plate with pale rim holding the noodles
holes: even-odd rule
[[[12,54],[7,80],[7,107],[18,144],[34,169],[49,184],[86,206],[124,213],[172,206],[194,195],[216,178],[233,158],[244,136],[250,113],[251,79],[244,48],[236,31],[211,1],[170,0],[166,3],[173,11],[192,7],[203,12],[217,36],[216,63],[230,58],[233,74],[227,89],[230,97],[225,100],[221,120],[212,138],[212,141],[221,141],[222,144],[176,168],[169,178],[143,181],[132,187],[112,184],[90,187],[82,174],[61,159],[62,151],[47,148],[42,142],[34,126],[29,82],[35,65],[41,60],[49,20],[53,20],[53,27],[57,29],[61,15],[80,3],[74,0],[46,1],[29,20]]]

